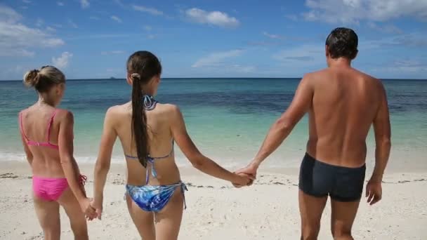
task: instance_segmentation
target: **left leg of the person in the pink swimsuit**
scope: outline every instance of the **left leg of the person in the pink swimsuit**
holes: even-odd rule
[[[56,201],[39,199],[37,196],[33,196],[33,199],[34,209],[43,229],[44,239],[59,240],[61,234],[59,204]]]

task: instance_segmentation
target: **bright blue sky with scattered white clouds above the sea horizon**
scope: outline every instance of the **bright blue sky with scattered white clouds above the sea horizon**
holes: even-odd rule
[[[427,79],[427,0],[0,0],[0,80],[124,78],[139,50],[162,77],[301,77],[326,67],[335,27],[359,36],[354,67]]]

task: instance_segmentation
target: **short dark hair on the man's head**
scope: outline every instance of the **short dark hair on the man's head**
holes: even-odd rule
[[[331,58],[348,58],[353,60],[357,55],[357,34],[352,29],[337,27],[326,39]]]

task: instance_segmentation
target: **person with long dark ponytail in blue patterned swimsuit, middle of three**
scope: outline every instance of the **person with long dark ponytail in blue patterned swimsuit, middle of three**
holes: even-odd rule
[[[129,57],[127,82],[132,86],[132,100],[107,110],[95,166],[92,206],[100,218],[112,148],[119,137],[127,165],[126,201],[144,240],[178,238],[187,188],[175,163],[174,142],[199,171],[235,185],[251,182],[248,175],[231,173],[199,152],[179,108],[153,98],[161,74],[162,65],[152,53],[138,51]]]

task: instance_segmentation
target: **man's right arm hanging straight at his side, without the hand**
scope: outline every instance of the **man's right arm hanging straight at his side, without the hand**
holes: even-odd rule
[[[388,103],[386,90],[381,84],[381,102],[378,112],[373,122],[375,133],[375,168],[372,173],[371,181],[381,182],[383,180],[384,169],[390,156],[390,115],[388,113]]]

